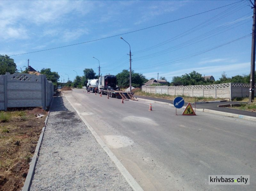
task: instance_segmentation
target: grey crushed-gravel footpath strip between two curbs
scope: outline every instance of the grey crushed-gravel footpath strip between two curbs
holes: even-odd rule
[[[65,97],[50,111],[31,191],[132,191]]]

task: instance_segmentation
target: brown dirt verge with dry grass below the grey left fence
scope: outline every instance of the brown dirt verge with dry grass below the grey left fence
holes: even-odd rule
[[[1,191],[22,190],[46,115],[41,108],[0,111]]]

